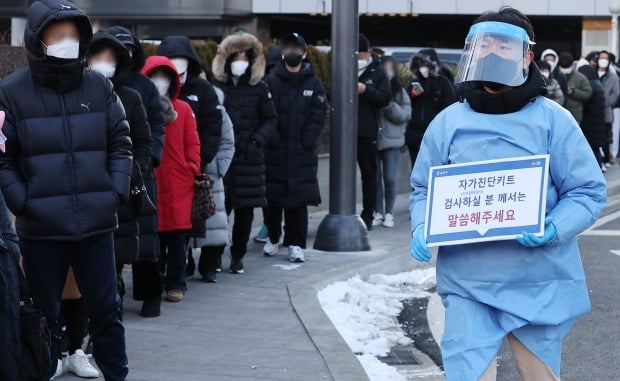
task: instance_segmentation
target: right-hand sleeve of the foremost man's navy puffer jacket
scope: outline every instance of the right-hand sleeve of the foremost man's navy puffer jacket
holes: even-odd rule
[[[108,172],[121,202],[129,199],[129,183],[132,171],[131,139],[125,109],[112,90],[112,83],[106,81],[108,99]]]

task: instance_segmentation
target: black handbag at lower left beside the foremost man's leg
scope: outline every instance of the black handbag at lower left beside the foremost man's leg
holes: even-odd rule
[[[21,361],[24,379],[46,379],[56,369],[56,361],[52,364],[50,355],[50,331],[47,320],[41,310],[36,308],[26,285],[26,278],[21,268],[19,273],[19,323],[21,337]]]

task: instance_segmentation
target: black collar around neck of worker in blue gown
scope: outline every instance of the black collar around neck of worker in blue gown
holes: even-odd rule
[[[476,112],[483,114],[510,114],[534,102],[537,96],[547,94],[547,86],[538,67],[532,62],[525,83],[499,94],[490,94],[480,82],[464,82],[460,87],[461,100]]]

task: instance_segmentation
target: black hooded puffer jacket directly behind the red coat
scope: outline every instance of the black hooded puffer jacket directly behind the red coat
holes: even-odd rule
[[[164,38],[157,55],[189,61],[187,80],[181,87],[179,99],[189,103],[194,111],[200,137],[200,159],[206,167],[215,157],[222,139],[222,112],[217,94],[209,81],[200,78],[198,54],[186,36]]]

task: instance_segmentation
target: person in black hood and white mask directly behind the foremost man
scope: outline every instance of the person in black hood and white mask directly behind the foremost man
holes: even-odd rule
[[[107,32],[98,32],[93,36],[93,41],[90,44],[88,65],[91,70],[100,72],[112,81],[114,91],[125,107],[135,161],[131,178],[132,188],[136,186],[140,188],[144,183],[142,173],[147,172],[150,168],[153,138],[140,94],[125,86],[127,74],[131,70],[131,57],[117,38]],[[139,253],[138,216],[133,203],[121,205],[118,210],[118,219],[119,228],[114,235],[114,247],[119,278],[119,294],[122,298],[125,293],[122,279],[123,266],[133,264]],[[135,281],[136,279],[134,279],[134,283]],[[138,284],[137,287],[139,288],[140,285]],[[143,307],[140,314],[144,317],[159,315],[159,302],[160,298],[153,302],[145,302],[146,308]],[[150,304],[153,305],[152,308],[149,308]],[[152,311],[149,312],[149,309]]]

